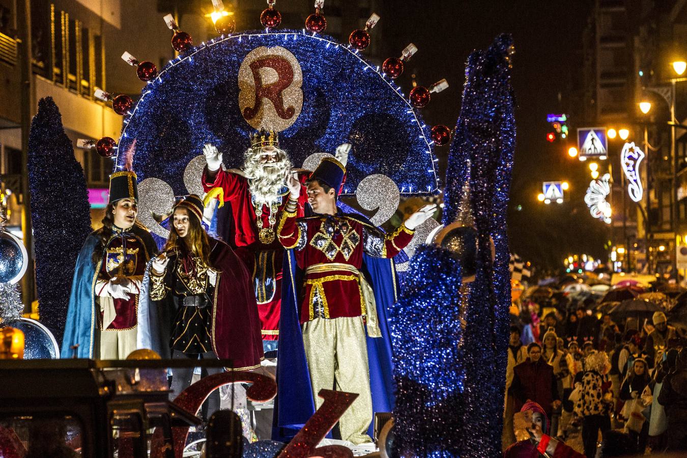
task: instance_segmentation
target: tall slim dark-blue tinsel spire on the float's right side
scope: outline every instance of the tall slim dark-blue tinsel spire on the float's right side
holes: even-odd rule
[[[466,378],[460,457],[464,458],[501,455],[510,306],[506,208],[515,152],[513,49],[513,39],[504,34],[488,50],[469,57],[449,152],[444,224],[453,222],[465,205],[461,190],[468,180],[478,233],[477,274],[470,284],[463,341]]]

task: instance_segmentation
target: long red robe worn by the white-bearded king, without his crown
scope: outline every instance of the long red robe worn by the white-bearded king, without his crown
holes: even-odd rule
[[[301,174],[304,182],[308,174]],[[240,174],[218,170],[214,181],[207,180],[207,168],[203,170],[203,189],[205,192],[214,187],[220,187],[224,192],[224,201],[232,206],[234,216],[234,242],[236,254],[246,264],[253,280],[258,301],[258,312],[262,323],[262,340],[271,341],[279,339],[279,317],[282,302],[282,263],[284,249],[276,237],[277,225],[273,226],[275,238],[273,242],[264,244],[260,242],[260,228],[269,227],[270,208],[262,205],[262,214],[258,220],[254,205],[251,201],[251,193],[248,179]],[[280,197],[276,220],[279,220],[280,212],[289,200],[289,191],[286,190]],[[303,215],[303,208],[307,201],[305,190],[301,192],[299,201],[299,216]],[[260,225],[258,226],[258,222]]]

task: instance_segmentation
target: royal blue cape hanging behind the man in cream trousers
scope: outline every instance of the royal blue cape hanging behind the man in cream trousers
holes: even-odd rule
[[[387,310],[390,310],[396,301],[396,270],[393,260],[363,255],[361,271],[374,290],[382,334],[381,338],[367,337],[372,410],[374,413],[391,412],[395,400]],[[298,297],[301,285],[302,271],[296,266],[293,250],[287,250],[284,256],[282,310],[279,322],[278,396],[275,401],[272,433],[275,440],[289,440],[315,413],[299,317]],[[370,424],[370,436],[373,428],[374,422]]]

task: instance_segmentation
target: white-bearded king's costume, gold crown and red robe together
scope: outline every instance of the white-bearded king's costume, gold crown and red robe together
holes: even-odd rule
[[[258,151],[266,146],[279,147],[277,132],[260,130],[251,137],[251,150]],[[262,323],[262,340],[278,341],[284,249],[277,240],[275,227],[278,215],[286,206],[289,191],[284,187],[274,201],[260,203],[251,194],[251,179],[242,170],[220,168],[216,173],[214,180],[210,181],[208,168],[203,170],[203,189],[210,196],[218,196],[231,206],[231,232],[236,254],[245,262],[251,274]],[[304,181],[307,173],[301,176]],[[303,216],[306,202],[303,194],[298,205],[299,216]],[[272,347],[266,347],[269,348]]]

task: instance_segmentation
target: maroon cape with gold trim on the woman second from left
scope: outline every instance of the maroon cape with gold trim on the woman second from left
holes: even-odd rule
[[[251,275],[225,242],[210,238],[210,249],[210,264],[219,271],[211,298],[212,347],[218,358],[234,361],[233,369],[255,369],[264,352]],[[170,264],[172,261],[170,256]],[[170,334],[178,309],[171,294],[157,304],[159,332],[153,340],[159,339],[157,346],[163,358],[170,357]]]

